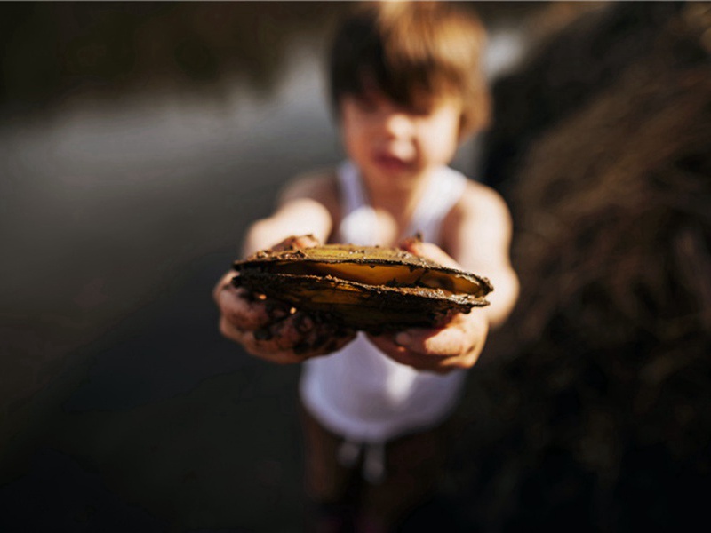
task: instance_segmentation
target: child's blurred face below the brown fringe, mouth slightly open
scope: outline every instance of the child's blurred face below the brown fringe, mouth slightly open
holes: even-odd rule
[[[457,99],[403,106],[381,91],[340,99],[343,143],[368,179],[407,179],[450,163],[459,146]]]

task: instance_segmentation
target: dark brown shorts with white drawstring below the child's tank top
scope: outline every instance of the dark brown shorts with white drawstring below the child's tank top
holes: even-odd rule
[[[315,521],[367,521],[369,528],[356,530],[388,531],[435,495],[447,461],[450,423],[397,437],[379,447],[358,445],[333,434],[303,406],[301,423],[305,490]],[[373,449],[380,450],[375,463],[384,466],[381,475],[368,472]],[[344,451],[350,456],[346,461]],[[310,530],[353,529],[322,525]]]

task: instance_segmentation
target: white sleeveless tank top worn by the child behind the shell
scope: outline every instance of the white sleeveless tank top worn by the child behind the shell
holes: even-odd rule
[[[356,167],[342,163],[337,176],[344,214],[338,241],[378,244],[375,211]],[[449,167],[436,171],[405,235],[419,232],[424,241],[438,243],[442,220],[466,184],[467,178]],[[340,351],[304,363],[300,395],[311,415],[333,433],[378,443],[442,422],[459,399],[464,377],[463,370],[440,375],[395,362],[359,332]]]

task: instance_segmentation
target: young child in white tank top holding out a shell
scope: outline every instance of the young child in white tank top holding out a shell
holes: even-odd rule
[[[387,531],[426,500],[442,464],[438,428],[459,398],[462,369],[515,304],[507,206],[446,166],[488,120],[483,37],[478,20],[455,4],[359,5],[341,25],[330,63],[348,161],[286,187],[276,212],[248,230],[244,252],[399,244],[489,277],[491,306],[437,328],[371,336],[301,312],[275,318],[275,306],[230,284],[234,274],[215,289],[226,337],[270,361],[304,362],[306,483],[321,512],[318,530],[340,530],[351,516],[356,530]],[[422,241],[406,239],[416,233]],[[284,241],[290,235],[308,236]]]

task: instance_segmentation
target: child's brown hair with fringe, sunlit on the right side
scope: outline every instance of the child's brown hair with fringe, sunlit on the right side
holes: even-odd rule
[[[461,99],[460,136],[489,123],[481,62],[485,31],[475,13],[450,2],[358,4],[337,28],[329,58],[332,105],[374,84],[395,102]]]

